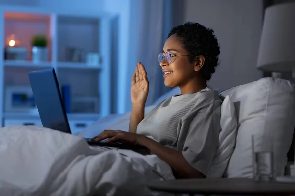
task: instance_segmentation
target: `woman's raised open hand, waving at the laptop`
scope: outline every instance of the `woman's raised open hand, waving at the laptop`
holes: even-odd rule
[[[131,103],[133,106],[145,106],[148,98],[148,75],[142,63],[138,62],[132,76]]]

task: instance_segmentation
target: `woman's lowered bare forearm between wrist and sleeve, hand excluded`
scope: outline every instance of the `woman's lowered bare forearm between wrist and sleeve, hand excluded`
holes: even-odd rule
[[[173,175],[176,178],[204,178],[205,176],[194,169],[183,157],[182,153],[165,147],[160,143],[142,136],[139,139],[139,145],[148,148],[150,154],[157,155],[160,159],[165,161],[173,170]]]

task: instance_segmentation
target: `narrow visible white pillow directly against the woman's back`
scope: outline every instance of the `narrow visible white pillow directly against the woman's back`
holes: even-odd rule
[[[221,104],[220,126],[219,146],[211,163],[208,178],[223,176],[235,148],[237,116],[230,96],[226,96]]]

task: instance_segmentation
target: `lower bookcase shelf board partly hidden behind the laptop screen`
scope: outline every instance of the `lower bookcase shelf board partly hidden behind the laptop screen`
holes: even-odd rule
[[[99,114],[84,114],[84,113],[69,113],[67,114],[68,120],[94,120],[100,118]],[[26,113],[26,112],[5,112],[5,119],[40,119],[39,113]]]

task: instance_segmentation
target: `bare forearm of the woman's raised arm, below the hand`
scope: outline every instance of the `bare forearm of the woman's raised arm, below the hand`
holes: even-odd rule
[[[137,125],[144,119],[145,105],[132,105],[129,132],[136,133]]]

